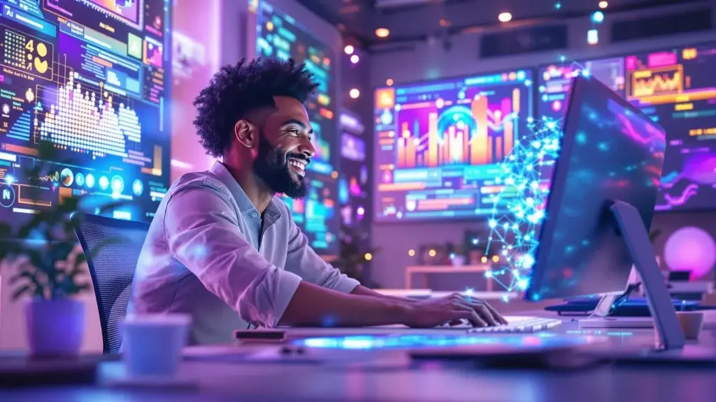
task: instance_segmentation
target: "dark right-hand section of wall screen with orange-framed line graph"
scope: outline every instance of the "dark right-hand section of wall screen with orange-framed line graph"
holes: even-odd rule
[[[716,46],[625,59],[627,99],[667,132],[657,210],[716,206]]]

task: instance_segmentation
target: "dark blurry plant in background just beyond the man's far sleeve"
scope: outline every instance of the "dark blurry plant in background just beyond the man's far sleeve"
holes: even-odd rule
[[[365,265],[380,252],[379,248],[372,248],[367,244],[367,237],[367,233],[360,234],[351,227],[343,225],[339,255],[333,265],[349,278],[358,280],[362,285],[379,288],[377,284],[370,283],[364,271]]]

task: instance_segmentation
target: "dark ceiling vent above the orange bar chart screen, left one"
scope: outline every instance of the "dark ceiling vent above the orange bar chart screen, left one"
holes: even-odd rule
[[[567,26],[539,26],[499,34],[485,34],[480,38],[480,57],[500,57],[511,54],[546,52],[566,49]]]

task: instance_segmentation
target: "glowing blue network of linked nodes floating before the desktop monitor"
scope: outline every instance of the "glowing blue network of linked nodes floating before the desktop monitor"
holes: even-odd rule
[[[508,291],[527,288],[562,134],[561,121],[547,117],[529,118],[527,126],[528,134],[518,139],[499,166],[495,184],[503,187],[493,196],[493,213],[488,221],[490,237],[485,255],[499,250],[505,264],[488,275]]]

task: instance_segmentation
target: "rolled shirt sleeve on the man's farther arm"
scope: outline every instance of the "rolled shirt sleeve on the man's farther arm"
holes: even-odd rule
[[[316,254],[309,245],[308,237],[296,225],[290,212],[286,212],[284,216],[290,220],[286,270],[296,273],[306,282],[342,293],[351,293],[360,285],[357,280],[348,278]]]

